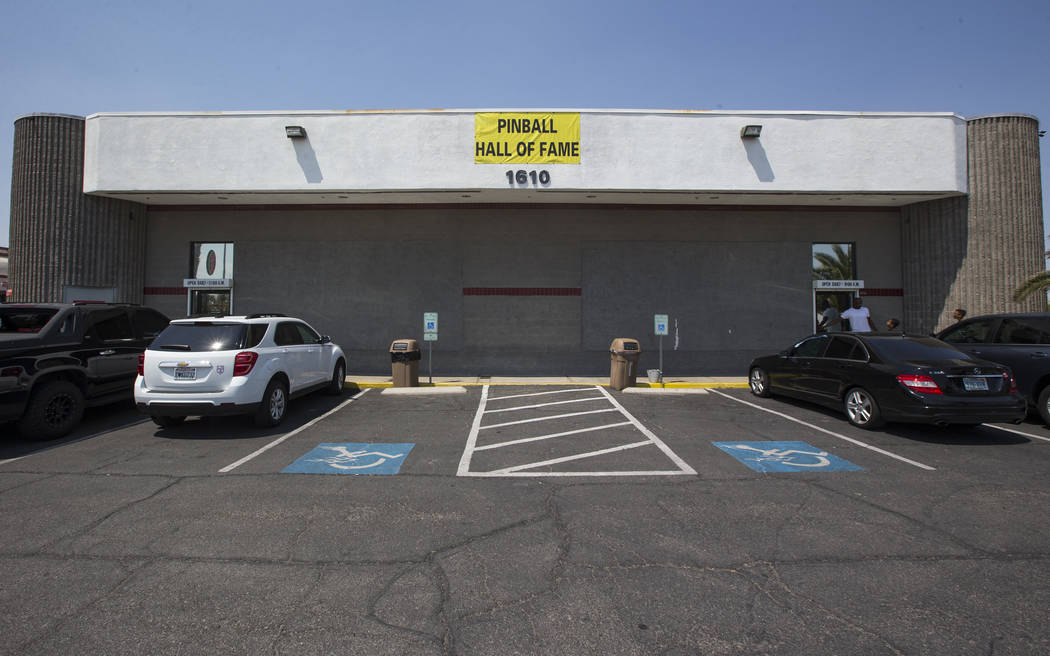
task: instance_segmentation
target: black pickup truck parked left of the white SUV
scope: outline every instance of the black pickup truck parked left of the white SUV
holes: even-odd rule
[[[168,317],[118,303],[0,304],[0,432],[63,436],[84,408],[131,398],[139,355]]]

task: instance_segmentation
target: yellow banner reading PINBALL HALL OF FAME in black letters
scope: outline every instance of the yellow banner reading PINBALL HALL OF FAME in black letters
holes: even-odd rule
[[[474,114],[475,164],[580,164],[580,114]]]

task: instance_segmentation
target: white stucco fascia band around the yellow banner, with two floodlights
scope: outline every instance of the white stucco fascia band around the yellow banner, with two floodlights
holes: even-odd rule
[[[952,113],[558,111],[581,113],[579,165],[475,164],[475,110],[92,114],[84,191],[506,190],[524,168],[548,191],[966,192]]]

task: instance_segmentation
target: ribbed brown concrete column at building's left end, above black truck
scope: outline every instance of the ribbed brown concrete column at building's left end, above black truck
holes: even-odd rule
[[[15,302],[59,302],[65,285],[116,288],[142,302],[146,207],[84,194],[84,120],[15,121],[10,288]]]

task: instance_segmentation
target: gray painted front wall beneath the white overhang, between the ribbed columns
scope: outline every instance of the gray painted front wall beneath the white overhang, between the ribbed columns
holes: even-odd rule
[[[234,312],[302,316],[388,373],[387,347],[440,314],[436,375],[608,374],[609,342],[642,340],[652,315],[668,375],[743,375],[750,359],[812,331],[813,241],[855,241],[870,288],[900,288],[896,210],[418,208],[256,211],[153,208],[146,285],[178,287],[190,241],[234,241]],[[464,296],[464,288],[580,288],[581,296]],[[171,314],[180,296],[147,296]],[[878,320],[900,297],[866,300]],[[425,368],[425,361],[424,361]]]

